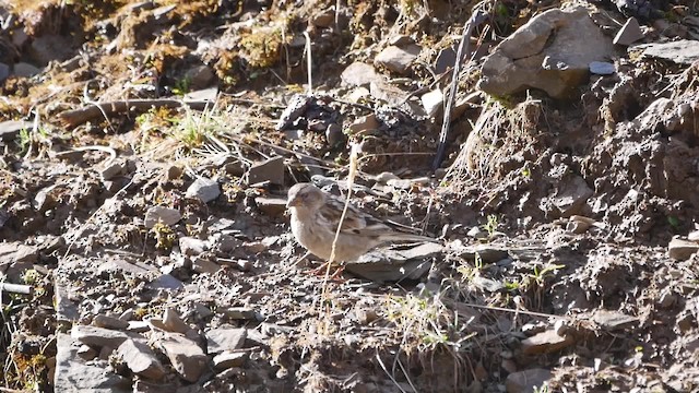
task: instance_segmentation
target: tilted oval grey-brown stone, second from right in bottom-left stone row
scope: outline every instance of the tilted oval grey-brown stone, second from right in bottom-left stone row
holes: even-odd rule
[[[158,344],[186,381],[196,382],[206,369],[206,355],[196,342],[179,334],[168,334]]]

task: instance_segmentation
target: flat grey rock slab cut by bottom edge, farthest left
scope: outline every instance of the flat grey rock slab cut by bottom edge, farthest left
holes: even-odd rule
[[[78,356],[76,341],[57,333],[54,391],[64,393],[130,393],[131,382],[105,366],[88,366]]]

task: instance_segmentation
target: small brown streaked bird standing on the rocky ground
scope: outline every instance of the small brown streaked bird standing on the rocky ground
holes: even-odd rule
[[[329,261],[345,202],[312,183],[301,182],[288,190],[286,206],[291,211],[291,227],[296,240],[310,253]],[[335,245],[333,262],[356,261],[387,242],[437,241],[401,229],[396,224],[376,218],[350,204]]]

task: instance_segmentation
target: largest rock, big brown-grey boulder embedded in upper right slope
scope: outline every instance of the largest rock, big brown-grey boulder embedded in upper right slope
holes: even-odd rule
[[[592,61],[614,57],[614,45],[588,11],[548,10],[502,40],[482,68],[478,88],[507,96],[529,87],[569,97],[589,76]]]

